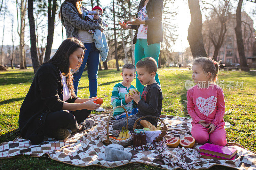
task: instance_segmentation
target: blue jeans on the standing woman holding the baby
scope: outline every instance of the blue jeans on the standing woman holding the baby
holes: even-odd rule
[[[85,43],[84,44],[85,52],[84,52],[84,60],[80,66],[80,68],[73,74],[74,81],[74,92],[77,96],[78,84],[82,77],[85,64],[87,63],[87,74],[89,79],[89,91],[90,98],[97,96],[97,88],[98,88],[98,68],[100,63],[100,51],[95,47],[95,43]]]

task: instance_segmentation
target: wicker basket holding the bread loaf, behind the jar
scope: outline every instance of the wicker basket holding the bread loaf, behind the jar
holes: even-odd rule
[[[135,121],[135,123],[134,123],[134,125],[133,125],[133,130],[134,130],[134,129],[143,129],[143,128],[144,128],[142,125],[137,125],[137,124],[138,124],[138,122],[139,122],[141,119],[143,119],[143,118],[145,118],[145,117],[156,118],[156,119],[160,120],[160,121],[163,123],[164,127],[161,126],[161,128],[160,128],[161,133],[159,134],[158,137],[156,137],[156,139],[155,139],[153,142],[160,142],[160,141],[162,141],[162,140],[163,140],[163,137],[164,137],[164,136],[166,135],[166,133],[167,133],[167,127],[166,127],[166,124],[164,123],[164,121],[163,121],[161,118],[158,118],[158,117],[156,117],[156,116],[149,116],[149,115],[147,115],[147,116],[142,116],[142,117],[140,117],[139,119],[137,119],[137,120]],[[157,127],[157,126],[155,126],[155,127]]]

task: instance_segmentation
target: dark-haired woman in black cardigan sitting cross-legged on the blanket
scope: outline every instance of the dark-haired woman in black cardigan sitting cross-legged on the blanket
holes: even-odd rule
[[[101,105],[96,99],[76,97],[71,69],[77,70],[84,57],[84,45],[75,38],[63,41],[47,63],[36,71],[19,115],[21,137],[40,144],[44,136],[65,139],[94,125],[85,119]],[[63,101],[65,99],[66,101]]]

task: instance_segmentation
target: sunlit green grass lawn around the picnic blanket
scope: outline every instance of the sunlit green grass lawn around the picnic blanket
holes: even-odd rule
[[[163,91],[162,114],[188,117],[185,81],[191,80],[190,70],[159,70],[159,79]],[[0,143],[13,140],[19,136],[19,110],[30,84],[33,70],[8,70],[0,72]],[[226,111],[224,120],[231,124],[226,129],[228,142],[236,142],[256,152],[256,72],[220,71],[219,80],[225,81],[223,89]],[[122,81],[121,71],[102,70],[98,74],[98,97],[103,98],[106,110],[111,110],[110,98],[113,86]],[[226,89],[228,81],[244,82],[243,89]],[[132,82],[135,86],[135,80]],[[79,83],[78,94],[81,98],[89,96],[88,78],[85,71]],[[93,114],[98,114],[93,112]],[[53,161],[49,158],[0,159],[0,169],[81,169],[80,167]],[[147,165],[125,165],[114,169],[159,169]],[[213,166],[210,169],[223,169]],[[84,169],[102,169],[89,166]],[[225,168],[224,168],[225,169]],[[226,168],[230,169],[230,168]]]

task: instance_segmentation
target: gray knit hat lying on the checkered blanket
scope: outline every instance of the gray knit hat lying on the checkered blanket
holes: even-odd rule
[[[124,151],[124,147],[120,144],[110,144],[99,157],[106,161],[131,160],[132,153]]]

